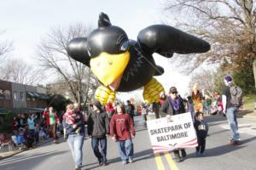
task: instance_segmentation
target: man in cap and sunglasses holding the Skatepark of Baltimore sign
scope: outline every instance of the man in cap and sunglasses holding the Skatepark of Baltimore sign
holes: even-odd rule
[[[160,116],[171,121],[172,115],[178,115],[185,113],[185,106],[183,104],[183,99],[177,95],[177,88],[172,87],[169,90],[169,96],[166,98],[163,105],[160,108]],[[177,162],[183,161],[183,158],[187,156],[187,153],[184,149],[181,150],[182,156],[180,156],[179,150],[174,150],[174,156]]]

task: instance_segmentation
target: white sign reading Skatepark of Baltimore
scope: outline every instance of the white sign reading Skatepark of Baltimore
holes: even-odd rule
[[[147,127],[154,153],[194,148],[198,145],[189,112],[171,116],[171,121],[167,121],[166,117],[150,120]]]

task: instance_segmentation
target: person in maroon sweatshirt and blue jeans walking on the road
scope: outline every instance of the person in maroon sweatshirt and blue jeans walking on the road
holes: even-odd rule
[[[126,164],[127,161],[131,163],[133,156],[133,144],[131,139],[135,136],[133,122],[131,116],[125,113],[124,105],[117,105],[116,111],[117,114],[112,116],[110,122],[110,135],[113,141],[117,143],[119,156],[123,164]]]

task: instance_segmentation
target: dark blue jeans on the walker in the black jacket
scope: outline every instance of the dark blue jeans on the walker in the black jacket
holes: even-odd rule
[[[101,151],[99,150],[99,144],[101,145]],[[94,152],[94,155],[98,158],[98,160],[101,160],[103,163],[107,162],[107,139],[97,139],[92,138],[91,139],[91,147]]]

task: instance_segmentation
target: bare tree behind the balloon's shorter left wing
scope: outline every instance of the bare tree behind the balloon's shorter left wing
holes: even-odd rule
[[[50,71],[55,77],[60,77],[62,88],[72,95],[76,102],[83,102],[83,96],[87,96],[91,79],[95,79],[90,68],[73,60],[67,54],[67,42],[74,37],[87,37],[90,27],[76,24],[67,29],[52,29],[41,44],[38,46],[38,60],[45,70]],[[57,78],[52,82],[56,82]],[[57,82],[59,82],[59,80]],[[85,89],[84,89],[85,87]],[[86,88],[88,87],[88,88]]]

